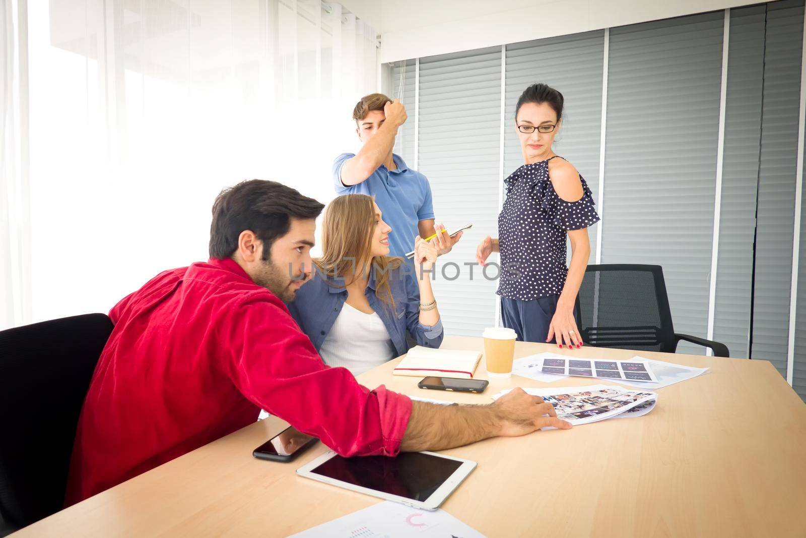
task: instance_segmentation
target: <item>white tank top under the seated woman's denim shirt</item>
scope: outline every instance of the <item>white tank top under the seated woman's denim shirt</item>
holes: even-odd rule
[[[395,358],[395,347],[377,312],[364,314],[345,302],[319,356],[328,366],[344,366],[359,375]]]

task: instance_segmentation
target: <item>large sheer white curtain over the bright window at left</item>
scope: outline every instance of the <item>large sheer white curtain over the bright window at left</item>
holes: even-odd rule
[[[375,31],[334,2],[28,10],[33,321],[108,311],[206,260],[223,187],[275,179],[329,202],[352,107],[378,89]]]

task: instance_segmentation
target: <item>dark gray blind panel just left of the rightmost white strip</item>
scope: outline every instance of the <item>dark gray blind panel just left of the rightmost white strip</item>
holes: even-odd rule
[[[787,371],[803,1],[767,5],[753,358]]]

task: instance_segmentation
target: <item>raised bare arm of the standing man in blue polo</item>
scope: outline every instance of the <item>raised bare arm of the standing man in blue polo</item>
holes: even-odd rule
[[[344,161],[341,167],[341,181],[344,186],[358,185],[372,176],[384,160],[392,152],[395,145],[397,128],[403,125],[406,120],[405,107],[395,99],[384,106],[384,123],[378,127],[378,131],[372,138],[367,140],[354,157]],[[359,121],[359,129],[361,122]]]

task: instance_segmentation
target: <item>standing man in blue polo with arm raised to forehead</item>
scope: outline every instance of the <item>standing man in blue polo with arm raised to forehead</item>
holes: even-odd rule
[[[451,252],[462,237],[445,233],[442,224],[434,225],[434,205],[428,179],[406,166],[399,155],[392,152],[397,129],[405,123],[405,107],[397,99],[392,101],[384,94],[369,94],[355,109],[359,140],[363,146],[358,154],[342,153],[333,163],[333,183],[336,194],[368,194],[384,214],[384,221],[392,227],[389,234],[389,254],[405,256],[414,249],[416,236],[436,237],[439,255]]]

